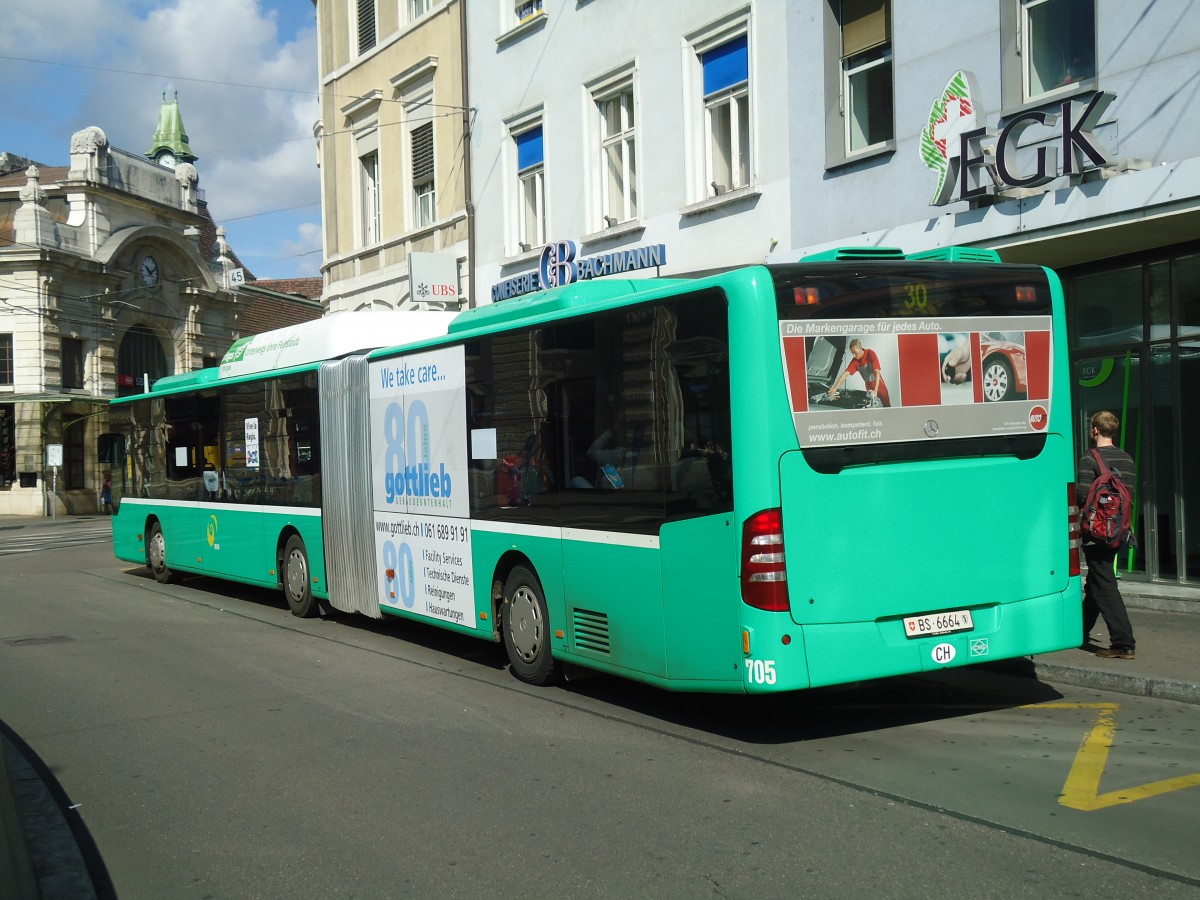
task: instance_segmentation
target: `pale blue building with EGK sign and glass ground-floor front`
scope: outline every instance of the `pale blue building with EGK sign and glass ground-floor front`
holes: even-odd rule
[[[937,26],[931,26],[937,23]],[[1138,461],[1122,572],[1200,583],[1200,28],[1152,0],[787,4],[792,244],[991,247],[1067,292],[1075,445]],[[980,498],[984,499],[984,498]]]

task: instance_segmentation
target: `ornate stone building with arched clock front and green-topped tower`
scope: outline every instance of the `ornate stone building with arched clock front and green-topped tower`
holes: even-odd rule
[[[97,511],[120,464],[103,439],[109,400],[217,365],[247,325],[320,314],[270,283],[234,289],[246,274],[174,100],[146,154],[94,126],[70,160],[0,155],[0,515]]]

